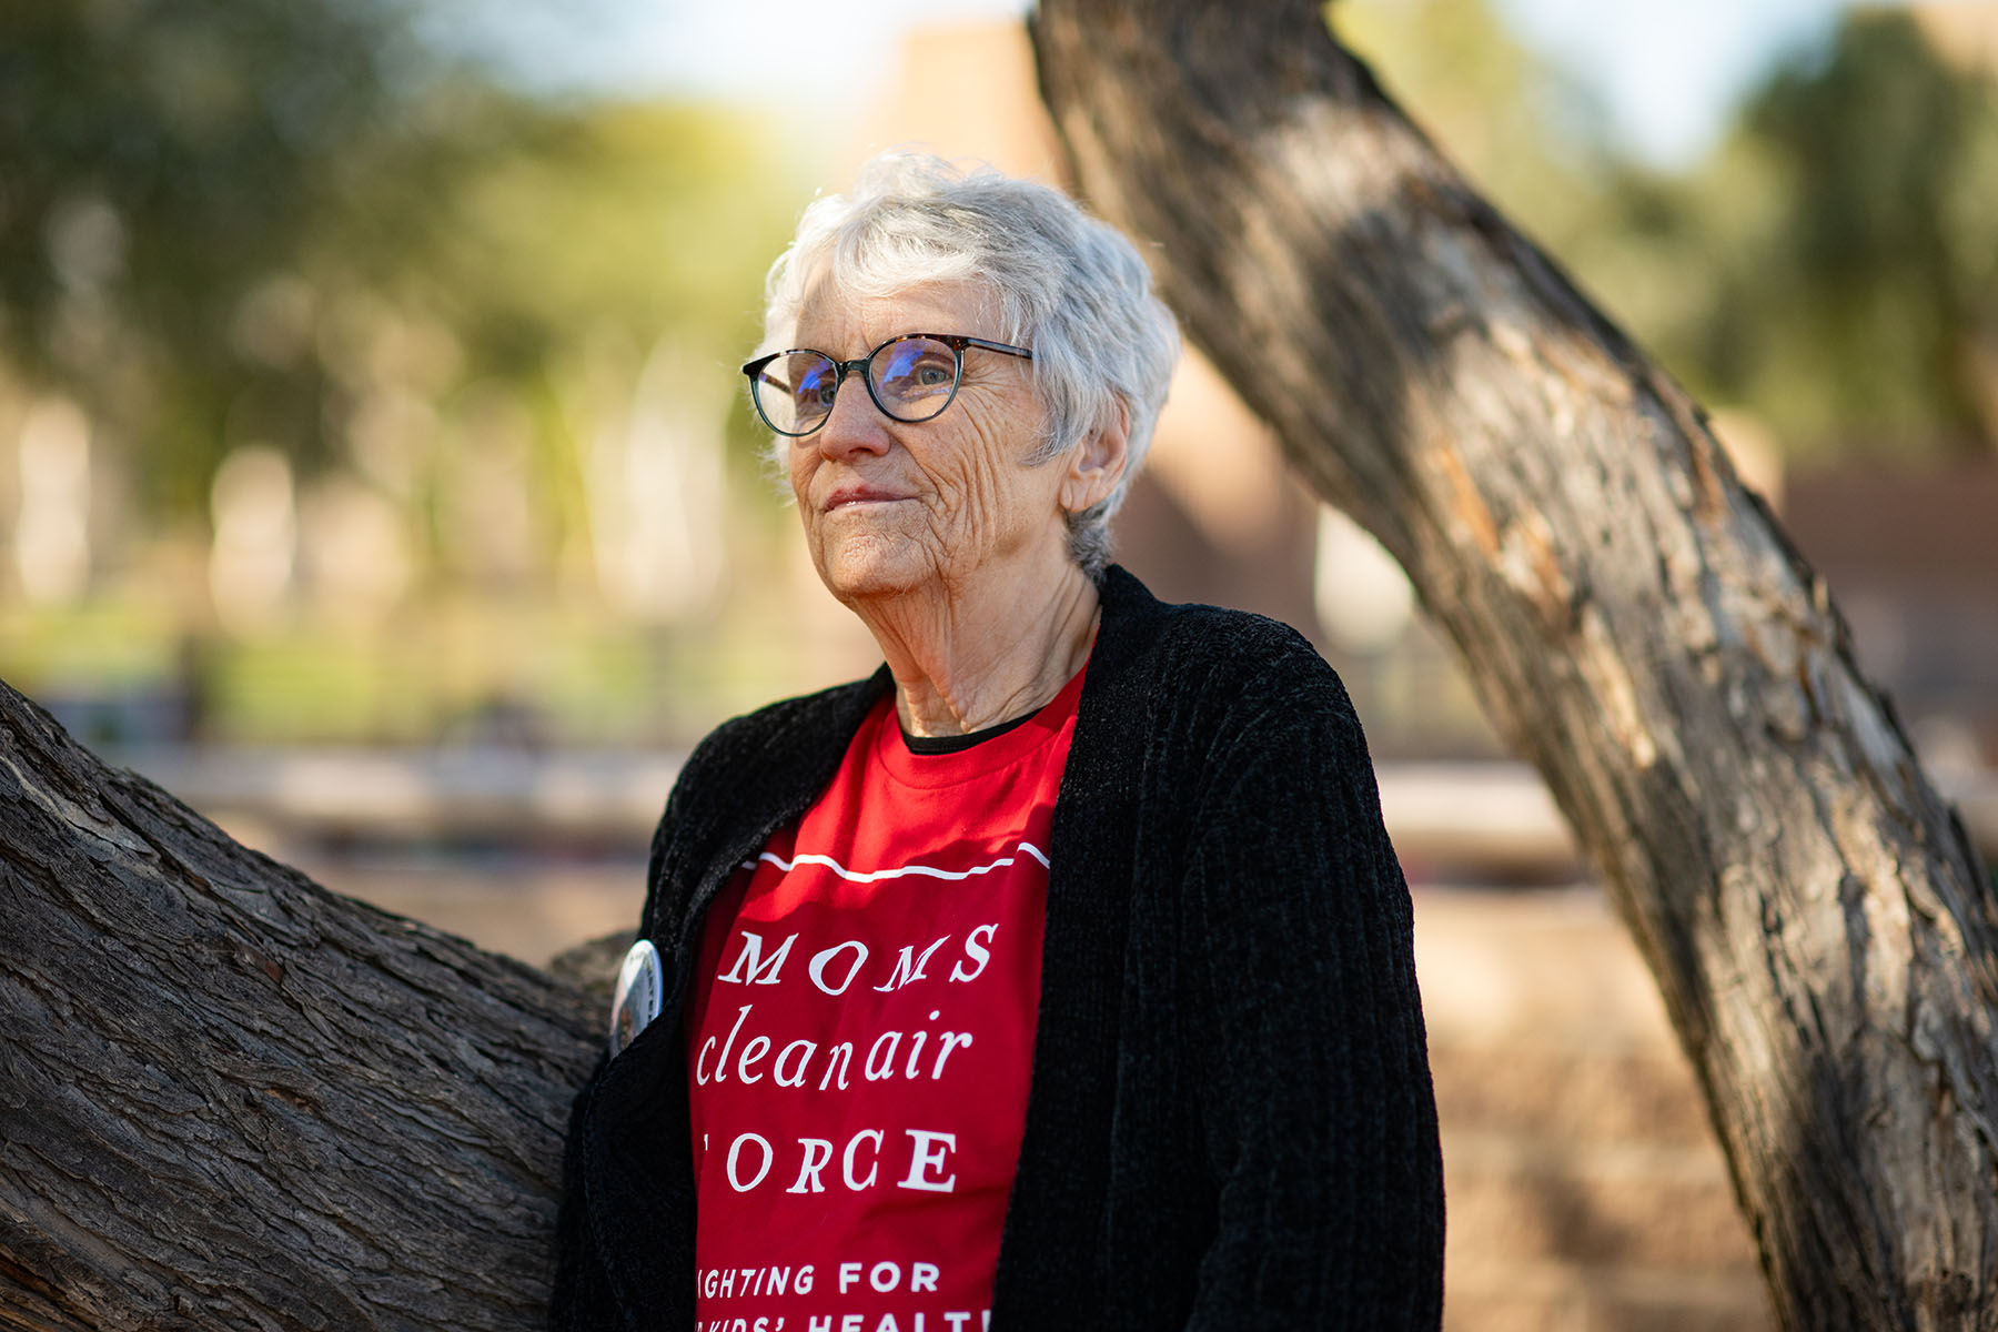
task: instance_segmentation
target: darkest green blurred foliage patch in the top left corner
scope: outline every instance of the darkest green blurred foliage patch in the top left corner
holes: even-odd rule
[[[334,166],[396,136],[398,34],[376,0],[4,10],[0,347],[158,463],[150,499],[198,497],[238,401],[314,441],[312,373],[244,355],[238,310],[300,264]]]

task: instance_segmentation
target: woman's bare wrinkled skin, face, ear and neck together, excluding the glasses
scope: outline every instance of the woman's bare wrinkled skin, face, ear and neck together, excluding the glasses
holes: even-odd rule
[[[849,300],[819,284],[793,345],[849,359],[899,333],[1001,330],[977,286]],[[943,415],[893,421],[849,375],[825,425],[787,445],[811,561],[873,631],[915,735],[1027,713],[1089,655],[1097,595],[1069,557],[1065,515],[1117,483],[1125,427],[1027,465],[1039,427],[1033,363],[971,347]]]

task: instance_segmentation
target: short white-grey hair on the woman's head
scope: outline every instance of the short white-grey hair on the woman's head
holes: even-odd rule
[[[1069,553],[1089,575],[1101,573],[1109,519],[1145,461],[1179,359],[1179,328],[1137,248],[1053,186],[887,152],[851,192],[805,208],[797,238],[769,270],[761,351],[797,345],[799,306],[819,276],[851,298],[937,282],[983,286],[997,304],[997,335],[1033,349],[1031,381],[1045,413],[1035,465],[1127,413],[1123,477],[1101,503],[1069,515]],[[773,441],[777,455],[785,445]]]

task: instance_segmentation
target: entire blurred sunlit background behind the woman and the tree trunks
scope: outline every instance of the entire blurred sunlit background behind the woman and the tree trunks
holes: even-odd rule
[[[1994,849],[1998,6],[1331,12],[1714,411]],[[0,8],[0,679],[334,887],[529,961],[627,927],[685,745],[875,661],[759,461],[761,272],[877,148],[1059,180],[1021,14]],[[1353,687],[1453,1328],[1768,1326],[1648,981],[1379,547],[1199,361],[1119,537]]]

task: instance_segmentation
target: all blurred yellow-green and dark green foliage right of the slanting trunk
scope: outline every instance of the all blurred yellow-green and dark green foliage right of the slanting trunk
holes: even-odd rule
[[[1998,443],[1998,94],[1902,12],[1784,56],[1662,174],[1487,0],[1341,0],[1341,34],[1506,212],[1712,405],[1792,457]]]

